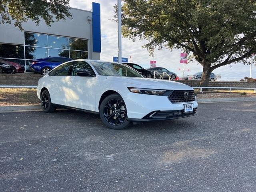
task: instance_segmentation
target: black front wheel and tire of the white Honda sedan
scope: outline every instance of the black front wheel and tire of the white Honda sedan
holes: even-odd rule
[[[100,104],[100,118],[110,129],[125,129],[130,125],[124,100],[119,94],[104,98]]]

